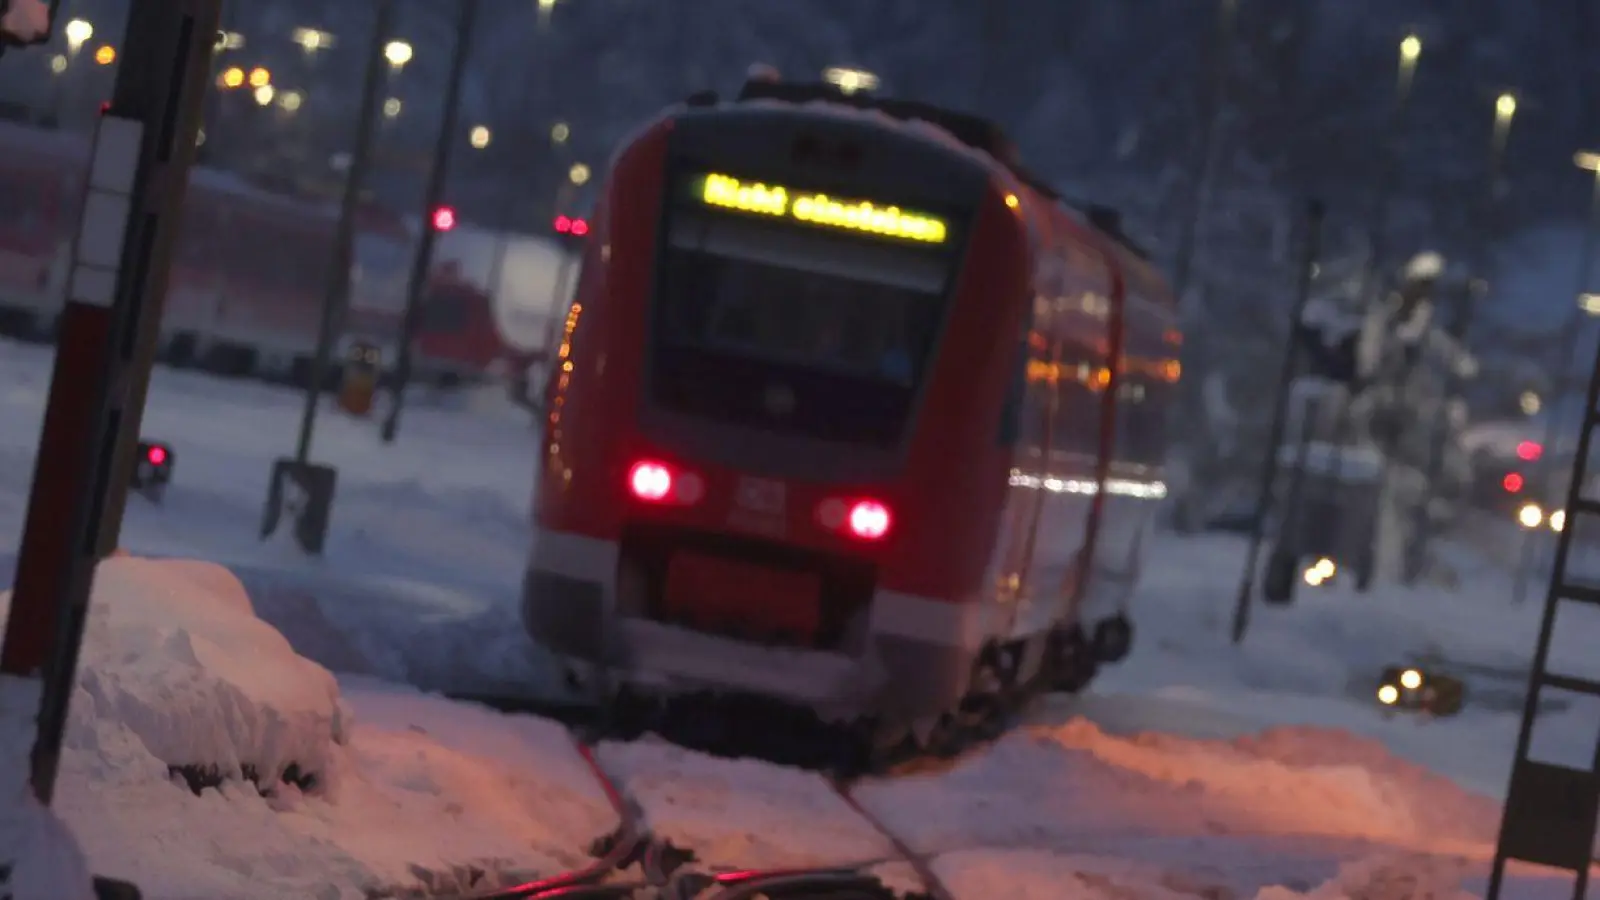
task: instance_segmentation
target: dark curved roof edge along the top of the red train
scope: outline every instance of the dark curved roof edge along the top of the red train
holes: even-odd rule
[[[712,106],[718,101],[714,91],[704,91],[690,98],[690,106]],[[1122,215],[1104,205],[1082,203],[1062,197],[1043,178],[1022,165],[1016,144],[1000,125],[955,109],[934,106],[922,101],[883,98],[867,93],[845,93],[837,85],[827,82],[782,82],[768,78],[750,78],[739,90],[734,102],[776,101],[787,104],[834,104],[846,106],[862,112],[877,112],[888,119],[912,125],[926,123],[954,138],[965,147],[984,154],[992,162],[1005,168],[1013,178],[1029,191],[1059,203],[1075,215],[1080,224],[1110,237],[1134,258],[1149,263],[1150,255],[1139,247],[1122,227]]]

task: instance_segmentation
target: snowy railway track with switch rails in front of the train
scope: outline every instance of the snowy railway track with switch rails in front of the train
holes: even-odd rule
[[[618,828],[592,849],[595,860],[587,866],[526,884],[470,894],[459,900],[554,900],[557,897],[563,900],[955,900],[949,887],[933,871],[930,857],[909,847],[854,796],[861,778],[874,773],[896,777],[912,772],[917,770],[917,765],[909,765],[914,761],[890,759],[883,765],[866,767],[856,757],[835,756],[829,759],[829,753],[816,746],[774,746],[771,733],[762,724],[752,724],[749,717],[741,719],[739,730],[747,735],[762,735],[766,740],[752,740],[744,746],[734,746],[733,741],[726,740],[726,735],[718,735],[723,740],[706,740],[709,735],[704,732],[699,735],[674,733],[674,729],[664,727],[670,722],[662,719],[618,721],[606,717],[608,721],[603,721],[595,716],[592,708],[586,706],[472,695],[458,695],[454,700],[480,703],[507,714],[531,714],[565,724],[573,732],[578,753],[605,790],[619,820]],[[782,721],[778,725],[778,733],[795,740],[792,721]],[[877,858],[808,868],[739,871],[707,868],[693,849],[677,847],[651,833],[648,817],[630,796],[626,780],[608,772],[595,751],[602,740],[637,740],[645,732],[654,732],[678,746],[712,756],[755,756],[798,769],[821,769],[827,773],[829,790],[867,823],[891,852]],[[973,740],[965,746],[947,745],[934,759],[954,761],[970,754],[1002,732],[1003,729],[974,730]],[[690,740],[682,740],[685,737]],[[701,740],[693,740],[696,737]],[[822,737],[822,743],[827,740]],[[750,753],[752,749],[755,753]],[[790,753],[771,753],[773,749],[789,749]],[[872,870],[890,865],[909,866],[922,890],[898,892],[872,873]]]

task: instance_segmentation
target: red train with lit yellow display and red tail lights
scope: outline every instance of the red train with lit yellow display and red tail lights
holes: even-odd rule
[[[931,740],[1126,653],[1174,303],[992,125],[752,82],[629,141],[592,226],[522,604],[576,677]]]

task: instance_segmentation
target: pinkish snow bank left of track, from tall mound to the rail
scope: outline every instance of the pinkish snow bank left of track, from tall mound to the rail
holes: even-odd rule
[[[254,617],[229,572],[106,560],[54,809],[94,871],[150,897],[230,900],[502,886],[586,863],[616,825],[558,725],[341,687]],[[232,777],[197,791],[174,765]],[[0,761],[0,823],[42,814],[19,802],[18,772]]]

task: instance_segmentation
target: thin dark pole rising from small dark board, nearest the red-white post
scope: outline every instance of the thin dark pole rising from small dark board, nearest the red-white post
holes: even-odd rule
[[[342,317],[350,295],[350,261],[355,255],[355,211],[362,200],[362,183],[373,157],[376,136],[378,94],[384,88],[387,69],[384,43],[394,30],[395,2],[378,0],[378,18],[373,22],[373,43],[366,50],[366,67],[362,75],[362,106],[355,122],[355,146],[350,149],[350,170],[344,175],[344,195],[339,200],[339,223],[333,235],[333,259],[328,266],[328,283],[322,295],[322,320],[317,325],[317,356],[310,364],[310,383],[306,386],[306,405],[301,408],[299,440],[294,444],[294,461],[310,460],[310,439],[317,426],[317,400],[323,381],[328,380],[328,364],[333,356],[334,327]]]

